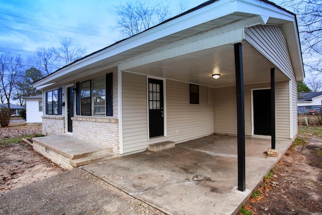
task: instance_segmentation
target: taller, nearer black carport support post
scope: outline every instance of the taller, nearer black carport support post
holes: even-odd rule
[[[236,99],[237,99],[237,160],[238,160],[238,190],[246,190],[245,168],[245,104],[243,53],[241,43],[234,44]]]

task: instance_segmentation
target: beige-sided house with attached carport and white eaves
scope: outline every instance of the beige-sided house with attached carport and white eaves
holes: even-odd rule
[[[294,14],[268,1],[220,0],[94,52],[33,86],[43,91],[43,134],[108,145],[121,156],[156,142],[236,135],[244,117],[245,135],[271,135],[267,104],[274,91],[276,138],[294,139],[302,65]],[[245,112],[237,117],[240,101]]]

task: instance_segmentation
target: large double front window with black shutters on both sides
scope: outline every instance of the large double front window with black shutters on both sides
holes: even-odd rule
[[[76,114],[113,116],[113,73],[76,83]]]

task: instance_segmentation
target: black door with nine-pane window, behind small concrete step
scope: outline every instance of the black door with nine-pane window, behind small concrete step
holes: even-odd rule
[[[164,135],[163,81],[148,79],[149,137]]]

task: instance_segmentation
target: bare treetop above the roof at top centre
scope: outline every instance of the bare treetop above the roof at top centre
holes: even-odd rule
[[[117,6],[116,11],[115,29],[124,37],[138,34],[170,17],[169,6],[142,0]]]

